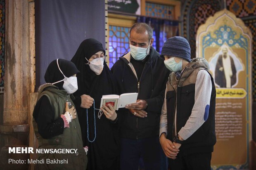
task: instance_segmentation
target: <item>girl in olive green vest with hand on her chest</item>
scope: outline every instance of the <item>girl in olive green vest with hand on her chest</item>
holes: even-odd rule
[[[72,101],[77,89],[76,65],[57,59],[45,72],[45,82],[38,89],[38,100],[33,111],[33,127],[40,149],[77,149],[73,154],[38,154],[38,160],[66,160],[64,163],[39,163],[36,169],[84,170],[87,157],[81,130]],[[74,97],[73,97],[74,99]]]

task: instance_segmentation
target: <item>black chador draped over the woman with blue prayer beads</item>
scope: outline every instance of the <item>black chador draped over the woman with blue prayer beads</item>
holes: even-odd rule
[[[117,94],[114,86],[114,78],[105,61],[104,68],[100,75],[96,75],[95,72],[90,70],[90,66],[86,64],[88,61],[85,58],[89,60],[92,55],[99,51],[104,51],[102,44],[95,39],[87,39],[80,44],[76,54],[71,59],[71,61],[75,63],[78,70],[80,70],[80,73],[76,75],[78,91],[76,91],[74,95],[76,97],[75,105],[81,126],[83,145],[89,147],[87,155],[88,170],[107,169],[106,167],[111,164],[116,164],[116,167],[118,166],[118,161],[113,159],[119,155],[119,147],[117,147],[116,142],[118,141],[118,132],[115,127],[116,125],[111,123],[111,121],[107,119],[104,114],[100,119],[98,119],[98,110],[94,111],[93,105],[88,110],[80,107],[80,96],[83,94],[90,95],[95,100],[96,109],[100,109],[100,100],[102,95]],[[94,122],[94,115],[96,116],[96,123]],[[94,142],[89,142],[87,139],[87,127],[89,127],[89,138],[92,140],[95,136],[94,123],[96,124],[96,140]]]

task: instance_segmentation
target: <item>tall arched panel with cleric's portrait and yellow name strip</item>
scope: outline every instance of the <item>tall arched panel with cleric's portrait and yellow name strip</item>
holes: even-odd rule
[[[217,142],[213,170],[249,168],[251,142],[251,43],[243,21],[227,9],[197,30],[197,57],[209,62],[216,87]]]

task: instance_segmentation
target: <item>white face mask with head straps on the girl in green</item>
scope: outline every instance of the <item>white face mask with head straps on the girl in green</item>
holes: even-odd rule
[[[59,63],[58,63],[58,60],[57,59],[57,65],[58,65],[58,68],[59,68]],[[62,70],[60,70],[59,68],[59,71],[62,73],[62,75],[64,76],[64,79],[63,80],[60,80],[59,82],[62,82],[64,81],[64,84],[63,84],[63,88],[66,90],[67,93],[69,94],[72,94],[74,93],[75,91],[78,90],[78,85],[77,85],[77,78],[75,76],[70,76],[70,77],[66,77]],[[59,83],[59,82],[55,82],[55,83]],[[55,84],[55,83],[52,83],[52,84]]]

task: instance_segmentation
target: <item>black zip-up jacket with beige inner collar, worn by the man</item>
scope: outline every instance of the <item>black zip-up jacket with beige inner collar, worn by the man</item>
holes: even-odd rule
[[[159,136],[161,108],[164,102],[165,85],[170,71],[164,65],[164,58],[151,47],[140,80],[137,79],[134,67],[130,63],[130,52],[120,57],[111,68],[117,80],[120,94],[138,93],[138,100],[146,100],[147,117],[140,118],[128,109],[118,113],[121,137],[141,139]]]

